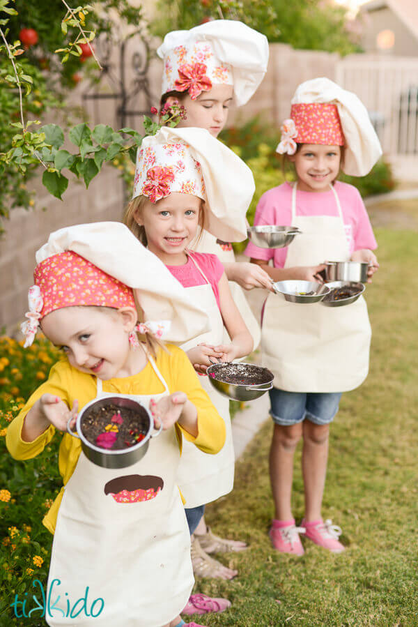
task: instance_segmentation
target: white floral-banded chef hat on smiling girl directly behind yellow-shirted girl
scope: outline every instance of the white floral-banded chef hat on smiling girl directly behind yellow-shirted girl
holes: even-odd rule
[[[138,149],[132,197],[198,196],[205,201],[206,230],[222,241],[246,239],[254,190],[249,167],[205,128],[164,126]]]

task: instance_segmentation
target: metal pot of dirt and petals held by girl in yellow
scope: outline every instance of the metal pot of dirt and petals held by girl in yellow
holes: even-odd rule
[[[125,468],[141,460],[154,432],[154,421],[144,405],[130,396],[115,395],[87,403],[77,417],[75,431],[82,451],[93,464],[103,468]]]

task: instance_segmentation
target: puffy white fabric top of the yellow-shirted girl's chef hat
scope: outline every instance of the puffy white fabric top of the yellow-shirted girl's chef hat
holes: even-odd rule
[[[93,222],[53,232],[36,252],[37,269],[42,268],[45,260],[56,259],[55,256],[67,251],[75,252],[109,278],[132,288],[147,321],[170,321],[164,340],[182,343],[209,330],[206,312],[190,298],[160,259],[121,222]],[[47,270],[49,276],[54,275],[55,282],[59,282],[61,265],[57,264],[55,273],[53,268]],[[77,264],[71,260],[70,267],[74,265]],[[42,280],[37,284],[42,294]],[[120,287],[117,292],[121,292]],[[70,303],[67,296],[65,298]],[[57,307],[54,305],[51,309],[54,308]]]

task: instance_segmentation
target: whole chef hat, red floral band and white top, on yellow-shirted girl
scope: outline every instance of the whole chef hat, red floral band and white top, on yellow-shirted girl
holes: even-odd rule
[[[59,229],[36,252],[36,261],[22,324],[26,346],[33,342],[40,319],[54,310],[135,307],[134,296],[144,311],[146,330],[161,337],[164,329],[164,340],[181,343],[210,327],[206,312],[120,222]]]

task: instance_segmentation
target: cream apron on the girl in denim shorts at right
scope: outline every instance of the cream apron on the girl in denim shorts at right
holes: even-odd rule
[[[338,216],[296,216],[302,235],[288,248],[285,268],[348,261],[339,197],[331,186]],[[371,327],[363,297],[345,307],[288,303],[278,294],[265,302],[261,347],[274,387],[288,392],[344,392],[357,388],[369,371]]]

